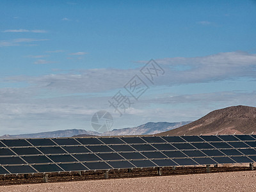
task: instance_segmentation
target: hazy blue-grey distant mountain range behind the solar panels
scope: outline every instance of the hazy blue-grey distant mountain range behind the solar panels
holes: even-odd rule
[[[33,134],[16,134],[9,135],[5,134],[0,136],[2,139],[12,139],[12,138],[64,138],[64,137],[86,137],[86,136],[122,136],[122,135],[143,135],[143,134],[156,134],[163,131],[168,131],[175,129],[182,125],[189,124],[190,122],[149,122],[147,124],[140,125],[138,127],[123,128],[123,129],[113,129],[112,131],[99,133],[96,131],[85,131],[83,129],[67,129],[59,131],[48,131],[48,132],[38,132]]]

